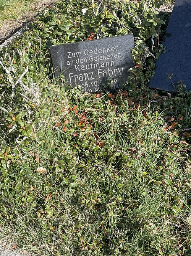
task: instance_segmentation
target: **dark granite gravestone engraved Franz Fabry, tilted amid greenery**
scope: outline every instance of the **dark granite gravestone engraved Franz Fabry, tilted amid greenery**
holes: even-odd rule
[[[55,77],[62,73],[66,84],[87,92],[99,91],[108,79],[113,79],[112,89],[119,89],[134,66],[133,47],[133,34],[50,46]]]

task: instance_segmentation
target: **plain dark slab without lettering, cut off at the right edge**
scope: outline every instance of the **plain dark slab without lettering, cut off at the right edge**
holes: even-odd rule
[[[175,92],[181,80],[191,89],[191,0],[176,0],[163,45],[149,87]]]

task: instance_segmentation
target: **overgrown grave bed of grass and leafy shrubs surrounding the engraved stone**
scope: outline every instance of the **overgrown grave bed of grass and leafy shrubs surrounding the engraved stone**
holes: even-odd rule
[[[190,255],[191,92],[147,87],[165,50],[160,3],[60,1],[2,51],[0,238],[13,248]],[[50,45],[126,33],[134,68],[120,91],[53,78]]]

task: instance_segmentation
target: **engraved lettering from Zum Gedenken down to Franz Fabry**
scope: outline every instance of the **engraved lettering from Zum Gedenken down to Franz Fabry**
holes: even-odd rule
[[[66,65],[74,65],[75,71],[86,71],[88,70],[88,73],[81,73],[81,74],[74,74],[74,73],[69,73],[69,80],[70,83],[78,83],[78,80],[80,82],[83,81],[89,81],[89,80],[94,80],[94,72],[89,72],[89,70],[96,69],[97,75],[99,79],[104,78],[112,78],[113,76],[119,76],[121,77],[123,74],[123,67],[122,68],[114,68],[110,69],[110,66],[115,66],[114,61],[111,59],[116,59],[116,58],[121,58],[120,53],[112,53],[112,52],[117,52],[119,51],[118,46],[112,46],[112,47],[106,47],[106,48],[99,48],[99,49],[94,49],[94,50],[88,50],[85,49],[84,52],[82,53],[81,51],[78,52],[67,52],[67,59],[75,58],[75,60],[68,60],[66,61]],[[108,54],[110,53],[110,54]],[[87,56],[87,58],[79,58],[82,57],[83,55]],[[96,56],[92,56],[96,55]],[[109,60],[109,61],[106,61]],[[105,61],[105,62],[100,62],[100,63],[94,63],[97,61]],[[86,64],[89,63],[90,64]],[[104,69],[107,68],[107,69]]]

